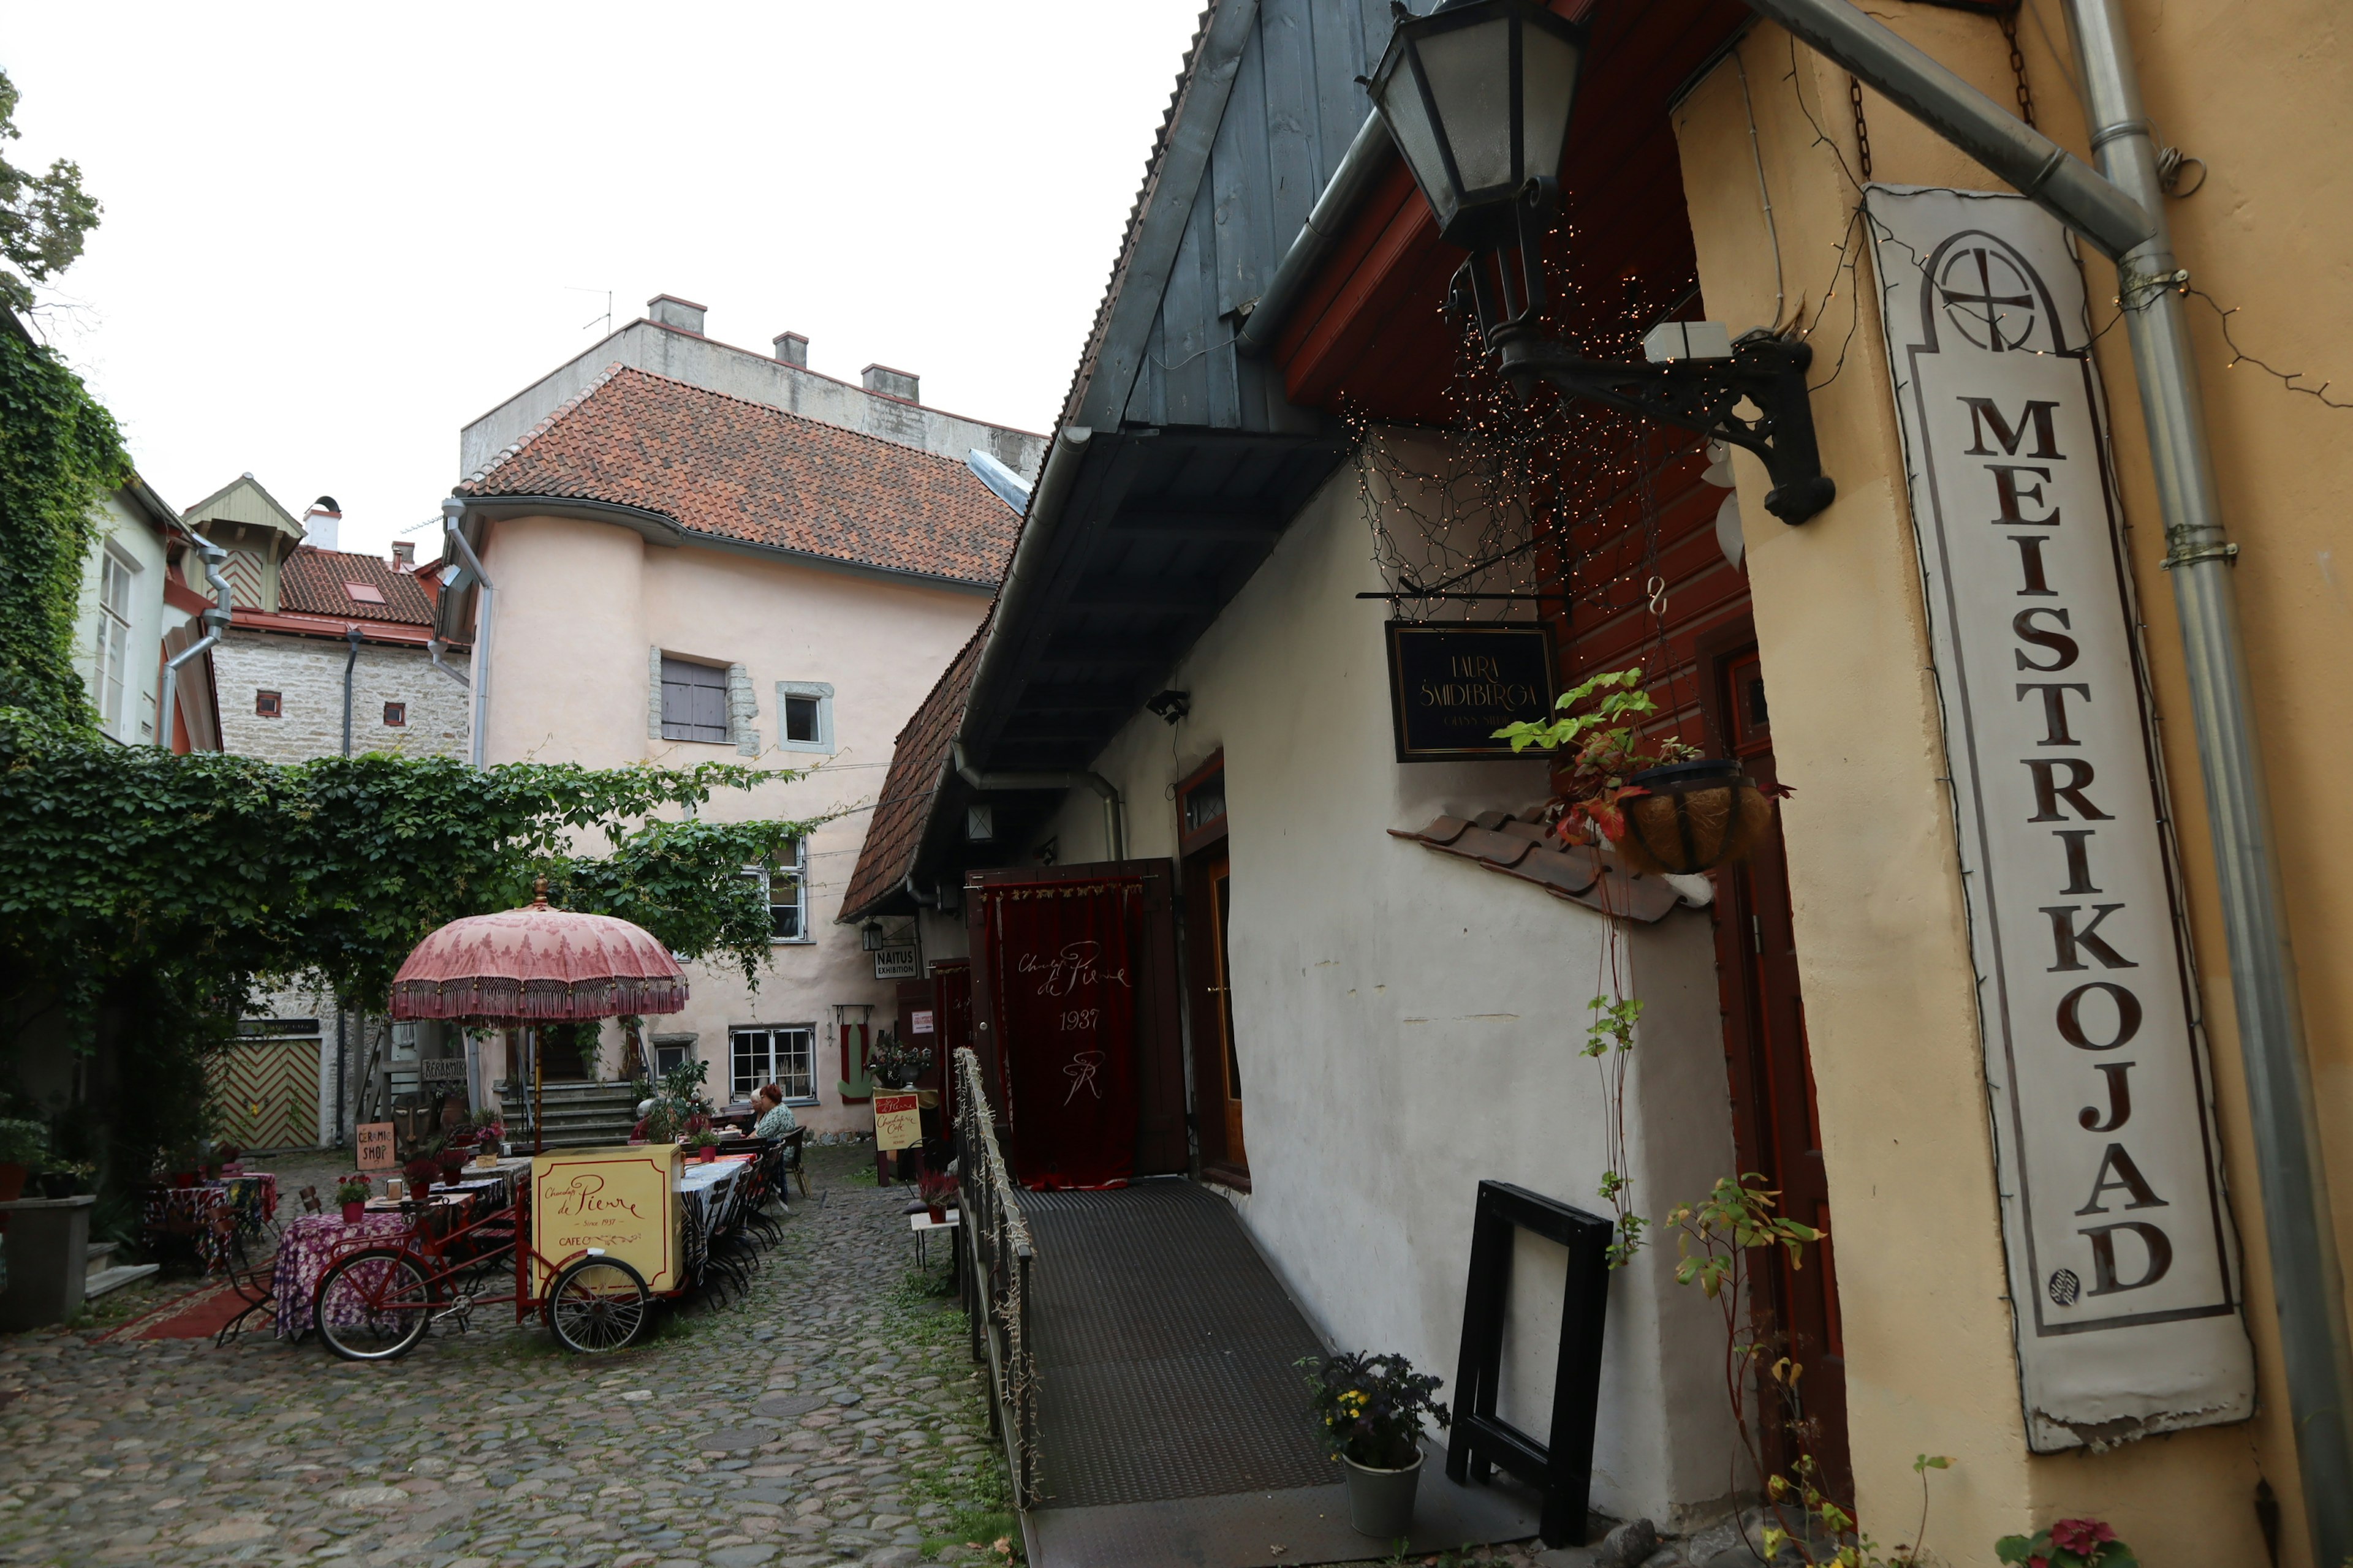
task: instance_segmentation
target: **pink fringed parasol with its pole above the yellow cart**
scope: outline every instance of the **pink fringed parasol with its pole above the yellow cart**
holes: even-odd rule
[[[393,976],[393,1018],[480,1018],[496,1023],[588,1023],[621,1013],[675,1013],[687,976],[642,926],[609,914],[548,907],[539,879],[527,910],[471,914],[416,943]],[[546,1140],[539,1105],[539,1030],[532,1060],[532,1143]]]

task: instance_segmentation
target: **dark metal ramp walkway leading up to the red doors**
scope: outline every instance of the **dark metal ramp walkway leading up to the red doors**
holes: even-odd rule
[[[1151,1180],[1019,1201],[1035,1237],[1035,1568],[1388,1556],[1348,1528],[1308,1422],[1297,1361],[1325,1347],[1224,1199]],[[1431,1455],[1414,1549],[1534,1533],[1534,1493],[1457,1488]]]

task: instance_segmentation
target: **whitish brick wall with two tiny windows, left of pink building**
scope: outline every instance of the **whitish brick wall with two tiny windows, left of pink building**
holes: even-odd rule
[[[226,750],[271,762],[344,752],[344,658],[325,637],[231,632],[212,651],[221,689]],[[280,717],[254,712],[254,693],[275,691]],[[407,703],[407,724],[384,722],[386,703]],[[409,757],[466,755],[466,689],[426,663],[424,649],[360,644],[351,679],[351,750]]]

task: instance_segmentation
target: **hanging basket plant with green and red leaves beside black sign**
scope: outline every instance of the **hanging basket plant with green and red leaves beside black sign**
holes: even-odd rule
[[[1553,773],[1553,832],[1609,842],[1642,872],[1704,872],[1755,849],[1772,806],[1739,762],[1701,757],[1675,733],[1647,733],[1659,705],[1642,670],[1607,670],[1555,703],[1560,717],[1494,731],[1520,752],[1565,757]],[[1788,795],[1788,790],[1772,790]]]

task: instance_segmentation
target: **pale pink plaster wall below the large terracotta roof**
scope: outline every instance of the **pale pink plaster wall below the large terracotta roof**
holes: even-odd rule
[[[487,762],[746,762],[732,741],[647,738],[647,654],[746,665],[758,703],[755,766],[807,773],[718,795],[704,813],[831,818],[809,835],[809,940],[776,943],[758,987],[739,969],[694,964],[687,1009],[647,1020],[647,1032],[694,1034],[713,1091],[725,1093],[729,1027],[814,1025],[819,1105],[795,1114],[819,1133],[873,1126],[873,1112],[842,1105],[835,1088],[835,1006],[849,1006],[849,1020],[871,1006],[880,1027],[896,1016],[896,983],[873,978],[873,954],[856,929],[835,919],[889,771],[892,741],[972,637],[986,595],[664,548],[628,529],[565,517],[492,524],[482,564],[499,585]],[[776,748],[776,682],[833,686],[831,757]],[[925,952],[932,957],[941,954]],[[609,1065],[619,1063],[616,1039],[607,1027]]]

